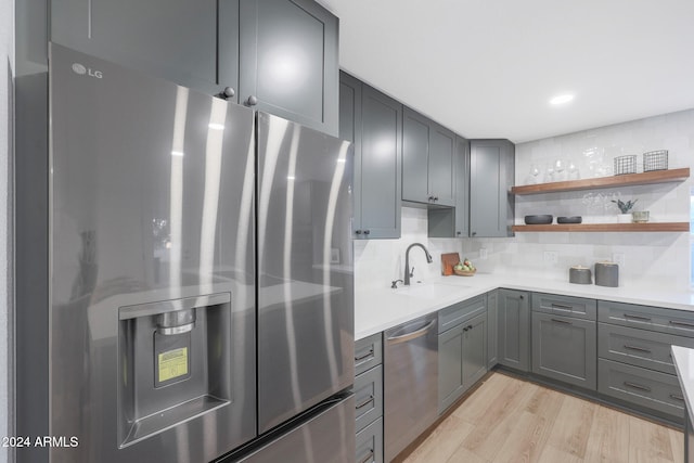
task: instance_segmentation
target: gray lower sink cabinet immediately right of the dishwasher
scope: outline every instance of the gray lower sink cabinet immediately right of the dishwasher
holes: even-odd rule
[[[438,411],[487,373],[487,304],[479,296],[439,311]]]

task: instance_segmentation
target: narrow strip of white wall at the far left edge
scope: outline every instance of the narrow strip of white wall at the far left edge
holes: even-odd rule
[[[12,307],[12,77],[14,75],[14,1],[0,2],[0,437],[11,435],[9,399],[12,336],[9,320]],[[0,463],[9,461],[0,448]]]

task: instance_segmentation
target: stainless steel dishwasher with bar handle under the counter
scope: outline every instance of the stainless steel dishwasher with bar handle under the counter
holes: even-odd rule
[[[389,462],[438,416],[438,314],[385,333],[384,453]]]

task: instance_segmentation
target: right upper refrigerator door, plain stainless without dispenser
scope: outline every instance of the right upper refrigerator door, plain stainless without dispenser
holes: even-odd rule
[[[349,142],[258,113],[258,429],[354,383]]]

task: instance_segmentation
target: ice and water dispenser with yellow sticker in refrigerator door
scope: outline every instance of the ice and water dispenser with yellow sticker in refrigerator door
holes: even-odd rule
[[[231,400],[231,294],[120,307],[118,443]]]

